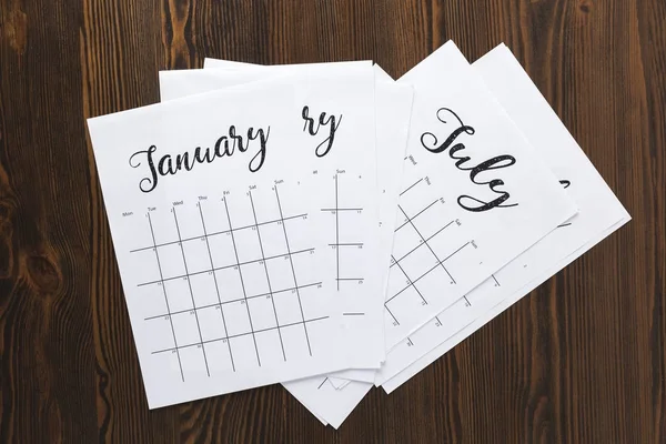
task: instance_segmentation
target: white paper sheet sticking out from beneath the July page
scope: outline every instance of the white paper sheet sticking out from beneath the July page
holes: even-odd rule
[[[445,310],[435,322],[396,346],[377,372],[376,383],[387,391],[451,350],[630,219],[506,47],[497,47],[475,62],[474,68],[544,155],[578,203],[579,213],[473,290],[467,295],[468,303],[457,303]],[[613,229],[608,231],[610,226]],[[406,367],[404,374],[396,376]]]

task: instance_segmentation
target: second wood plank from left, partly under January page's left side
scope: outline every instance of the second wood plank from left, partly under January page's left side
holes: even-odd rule
[[[157,1],[84,0],[79,32],[78,87],[80,120],[154,103],[158,70],[163,68]],[[94,333],[97,425],[101,441],[170,442],[182,426],[176,410],[148,410],[139,361],[99,186],[94,157],[85,132],[78,142],[80,162],[89,168],[89,230],[92,275],[90,316]],[[83,191],[83,190],[82,190]]]

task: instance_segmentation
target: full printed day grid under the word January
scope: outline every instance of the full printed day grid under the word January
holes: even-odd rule
[[[322,283],[301,279],[299,264],[314,248],[296,245],[293,234],[307,214],[286,214],[282,194],[275,184],[149,208],[150,238],[131,251],[157,265],[155,279],[138,284],[160,306],[144,321],[164,343],[152,354],[174,355],[183,382],[190,367],[210,376],[212,367],[312,356],[310,329],[329,316],[307,316],[306,300],[314,304]]]

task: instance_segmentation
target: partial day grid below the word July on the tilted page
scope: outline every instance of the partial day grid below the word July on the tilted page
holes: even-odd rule
[[[444,283],[457,284],[448,264],[465,250],[477,248],[473,240],[457,240],[461,233],[455,230],[463,225],[460,219],[443,219],[435,213],[437,208],[445,205],[443,198],[428,202],[422,202],[422,196],[411,199],[411,194],[420,186],[427,185],[430,179],[420,178],[400,193],[396,249],[391,255],[390,265],[393,275],[390,282],[398,284],[390,285],[390,294],[384,302],[395,326],[400,325],[400,316],[393,304],[411,296],[416,297],[421,305],[427,305],[432,297],[437,297],[437,291]],[[470,305],[466,296],[464,299]]]

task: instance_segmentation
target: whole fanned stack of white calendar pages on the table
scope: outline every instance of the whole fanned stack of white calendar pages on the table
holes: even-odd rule
[[[282,383],[337,427],[630,219],[504,46],[160,91],[88,121],[151,408]]]

